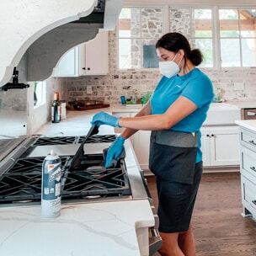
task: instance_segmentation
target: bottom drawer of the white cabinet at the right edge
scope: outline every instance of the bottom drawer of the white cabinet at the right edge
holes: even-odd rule
[[[256,216],[256,184],[241,175],[242,201],[245,208]]]

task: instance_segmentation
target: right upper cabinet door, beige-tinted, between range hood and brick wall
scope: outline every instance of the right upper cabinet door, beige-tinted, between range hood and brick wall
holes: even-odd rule
[[[80,75],[106,75],[109,73],[109,32],[99,30],[93,40],[80,45]]]

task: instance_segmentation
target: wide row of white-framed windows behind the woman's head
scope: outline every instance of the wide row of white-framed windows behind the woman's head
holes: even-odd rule
[[[255,24],[253,8],[123,8],[118,31],[119,67],[157,67],[154,46],[168,31],[182,33],[193,48],[202,51],[200,67],[256,67]]]

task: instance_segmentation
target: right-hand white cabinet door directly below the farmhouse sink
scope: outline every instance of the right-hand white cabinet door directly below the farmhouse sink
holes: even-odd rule
[[[211,166],[240,163],[238,126],[222,126],[210,130]]]

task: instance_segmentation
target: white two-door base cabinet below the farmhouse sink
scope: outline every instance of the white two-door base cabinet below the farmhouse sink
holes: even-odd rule
[[[203,126],[201,150],[204,166],[227,166],[240,163],[239,128],[237,125]]]

